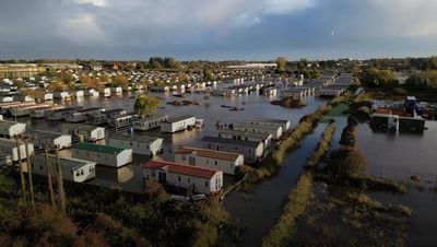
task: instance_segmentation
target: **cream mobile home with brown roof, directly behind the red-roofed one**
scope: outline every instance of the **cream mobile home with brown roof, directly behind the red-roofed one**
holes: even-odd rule
[[[175,152],[175,162],[235,175],[235,169],[245,163],[245,157],[239,153],[181,146]]]

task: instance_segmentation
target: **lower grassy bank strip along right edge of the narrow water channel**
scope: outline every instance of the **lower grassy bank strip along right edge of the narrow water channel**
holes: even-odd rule
[[[290,192],[284,207],[284,212],[276,224],[262,238],[262,247],[284,246],[292,237],[296,227],[296,220],[305,212],[311,198],[312,174],[305,172],[296,187]]]

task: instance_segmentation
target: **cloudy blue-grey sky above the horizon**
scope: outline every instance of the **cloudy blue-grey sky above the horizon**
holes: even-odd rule
[[[437,55],[437,0],[0,0],[0,59]]]

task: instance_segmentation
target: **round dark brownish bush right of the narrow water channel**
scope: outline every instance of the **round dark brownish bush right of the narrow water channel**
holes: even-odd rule
[[[330,155],[327,166],[333,177],[351,177],[367,172],[367,160],[355,148],[343,146]]]

